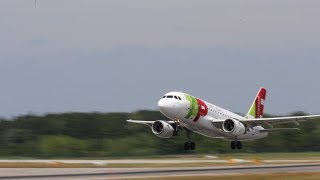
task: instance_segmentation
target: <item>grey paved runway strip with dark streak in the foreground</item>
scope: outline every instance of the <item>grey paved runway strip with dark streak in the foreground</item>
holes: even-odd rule
[[[129,179],[139,177],[289,172],[320,172],[320,164],[236,165],[188,168],[1,168],[0,179]]]

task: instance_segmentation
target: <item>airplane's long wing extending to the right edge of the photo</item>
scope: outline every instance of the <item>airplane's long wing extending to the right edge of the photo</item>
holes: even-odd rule
[[[320,115],[244,119],[242,122],[251,126],[268,125],[269,127],[273,128],[273,125],[277,124],[294,123],[296,125],[299,125],[300,122],[315,119],[320,120]]]

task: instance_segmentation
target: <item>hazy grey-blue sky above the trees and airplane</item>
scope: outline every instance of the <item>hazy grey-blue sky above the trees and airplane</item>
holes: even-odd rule
[[[0,1],[0,116],[156,109],[181,90],[319,113],[320,1]]]

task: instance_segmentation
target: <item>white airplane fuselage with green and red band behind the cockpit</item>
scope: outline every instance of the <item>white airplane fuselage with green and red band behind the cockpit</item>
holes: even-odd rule
[[[211,138],[245,141],[268,135],[260,131],[264,129],[261,126],[247,128],[245,133],[238,136],[225,132],[221,121],[218,123],[215,120],[234,119],[245,122],[246,118],[186,93],[167,93],[159,100],[158,107],[169,119],[179,121],[184,127]]]

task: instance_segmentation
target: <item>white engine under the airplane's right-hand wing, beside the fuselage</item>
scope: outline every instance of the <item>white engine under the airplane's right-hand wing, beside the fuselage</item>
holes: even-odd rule
[[[246,127],[240,121],[235,119],[227,119],[222,124],[224,132],[230,133],[234,136],[242,135],[246,132]]]

